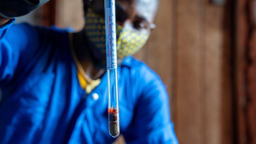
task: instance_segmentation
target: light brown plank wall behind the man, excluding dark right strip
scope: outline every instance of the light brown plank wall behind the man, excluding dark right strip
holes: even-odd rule
[[[180,144],[235,142],[231,2],[160,0],[157,28],[146,46],[135,54],[166,84]],[[56,6],[57,26],[75,30],[83,27],[82,0],[56,0]]]

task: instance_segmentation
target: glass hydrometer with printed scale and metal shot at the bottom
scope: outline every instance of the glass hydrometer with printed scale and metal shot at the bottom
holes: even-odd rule
[[[116,52],[116,8],[115,0],[105,0],[106,61],[108,74],[109,134],[117,137],[119,128],[117,52]]]

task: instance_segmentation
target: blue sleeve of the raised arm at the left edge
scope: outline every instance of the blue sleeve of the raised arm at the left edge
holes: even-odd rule
[[[37,29],[29,24],[13,24],[15,19],[0,27],[0,88],[11,82],[31,60],[39,46]]]

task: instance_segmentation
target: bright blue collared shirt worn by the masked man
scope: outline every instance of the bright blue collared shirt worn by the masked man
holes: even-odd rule
[[[0,144],[112,143],[106,74],[84,98],[68,32],[13,22],[0,27]],[[118,90],[128,144],[178,143],[165,87],[146,64],[127,57]]]

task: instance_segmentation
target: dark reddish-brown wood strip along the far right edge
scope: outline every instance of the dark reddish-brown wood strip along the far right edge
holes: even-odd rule
[[[237,1],[236,95],[238,144],[256,143],[255,0]]]

